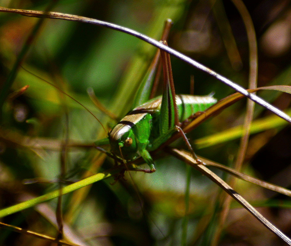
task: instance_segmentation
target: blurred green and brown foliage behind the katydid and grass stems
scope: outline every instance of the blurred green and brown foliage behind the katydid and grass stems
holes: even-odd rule
[[[0,1],[1,6],[45,10],[49,1]],[[258,40],[258,86],[290,84],[291,6],[289,1],[244,1],[254,22]],[[213,5],[213,6],[212,6]],[[230,1],[71,1],[56,2],[52,11],[106,20],[159,39],[163,22],[174,26],[169,46],[247,87],[249,55],[246,32],[240,15]],[[0,14],[0,83],[3,85],[24,41],[37,19]],[[103,27],[45,20],[38,30],[22,66],[62,88],[85,105],[108,128],[112,121],[90,101],[86,89],[111,111],[124,116],[134,92],[148,68],[155,48],[135,37]],[[190,91],[217,99],[233,93],[221,82],[172,58],[176,93]],[[17,204],[59,187],[60,146],[66,135],[75,143],[93,143],[107,133],[79,104],[22,68],[10,92],[25,85],[20,96],[6,100],[0,130],[0,206]],[[260,95],[260,94],[259,94]],[[285,110],[290,95],[262,92],[266,100]],[[188,134],[193,141],[242,124],[246,100],[240,100]],[[269,112],[256,108],[256,119]],[[26,119],[29,121],[26,122]],[[114,124],[114,122],[113,122]],[[269,182],[290,185],[290,127],[272,128],[251,136],[244,172]],[[109,128],[108,128],[109,129]],[[180,141],[178,146],[183,147]],[[225,165],[236,157],[239,140],[231,140],[196,151]],[[72,148],[65,153],[65,179],[77,181],[113,165],[97,150]],[[102,167],[101,167],[102,166]],[[71,242],[84,245],[180,245],[186,188],[185,164],[171,156],[156,160],[153,174],[126,174],[114,185],[113,178],[63,196],[65,232]],[[220,172],[216,172],[224,177]],[[37,178],[50,183],[23,184]],[[238,182],[234,189],[260,209],[268,219],[291,235],[289,199],[267,193],[257,186]],[[139,198],[143,201],[143,209]],[[196,170],[192,171],[187,245],[209,245],[220,212],[220,189]],[[272,198],[272,199],[271,199]],[[269,200],[271,199],[271,200]],[[2,222],[55,237],[57,201],[2,218]],[[276,207],[273,208],[273,204]],[[68,236],[68,234],[65,234]],[[1,229],[1,245],[45,245],[46,241]],[[236,203],[227,217],[220,245],[283,245]]]

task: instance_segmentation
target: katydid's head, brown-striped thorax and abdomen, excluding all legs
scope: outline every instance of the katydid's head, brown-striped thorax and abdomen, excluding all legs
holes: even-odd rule
[[[149,146],[149,139],[160,137],[155,125],[160,114],[162,97],[156,97],[130,111],[110,132],[111,152],[125,160],[139,156]],[[212,96],[176,95],[179,120],[216,103]],[[160,143],[162,144],[162,143]]]

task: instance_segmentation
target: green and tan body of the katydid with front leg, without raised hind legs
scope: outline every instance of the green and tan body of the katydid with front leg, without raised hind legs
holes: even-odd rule
[[[204,111],[214,103],[216,99],[212,96],[176,95],[179,121]],[[168,115],[163,115],[161,104],[162,96],[159,96],[130,111],[109,134],[111,152],[124,160],[140,155],[154,170],[148,151],[158,148],[176,130],[172,120],[173,110],[170,108],[166,111]]]

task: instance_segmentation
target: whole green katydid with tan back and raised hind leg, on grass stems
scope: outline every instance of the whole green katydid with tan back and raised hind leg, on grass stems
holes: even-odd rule
[[[161,42],[166,44],[166,41]],[[149,151],[156,150],[169,139],[180,128],[180,122],[217,101],[211,95],[175,95],[170,56],[161,51],[161,58],[163,95],[135,107],[117,123],[107,138],[95,142],[96,146],[110,144],[112,154],[123,161],[141,156],[150,167],[150,170],[143,171],[150,173],[155,171],[155,166]]]

